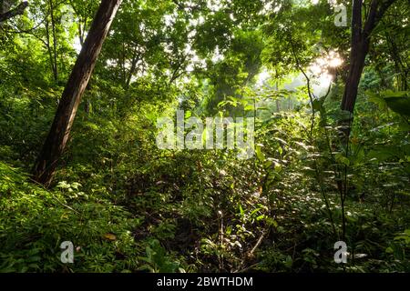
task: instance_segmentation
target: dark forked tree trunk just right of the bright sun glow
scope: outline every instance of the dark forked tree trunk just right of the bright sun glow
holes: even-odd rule
[[[374,27],[379,23],[385,11],[395,0],[372,0],[370,11],[364,25],[362,25],[363,0],[354,0],[352,15],[352,45],[350,53],[349,74],[344,86],[341,109],[354,114],[357,91],[364,70],[364,61],[369,53],[371,34]],[[352,118],[343,120],[343,133],[346,140],[350,135]]]

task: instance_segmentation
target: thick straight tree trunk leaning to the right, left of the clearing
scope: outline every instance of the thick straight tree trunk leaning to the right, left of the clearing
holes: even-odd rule
[[[122,0],[102,0],[86,41],[77,57],[76,65],[67,81],[56,116],[33,169],[34,179],[49,186],[58,159],[67,145],[68,136],[81,102],[81,96],[97,62],[101,46]]]

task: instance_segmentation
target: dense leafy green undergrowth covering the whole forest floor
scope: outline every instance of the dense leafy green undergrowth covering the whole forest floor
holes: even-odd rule
[[[238,160],[223,150],[160,151],[146,116],[83,115],[76,150],[49,190],[25,174],[26,147],[2,146],[0,271],[408,272],[408,163],[376,142],[395,125],[354,137],[362,139],[344,206],[350,256],[340,266],[342,209],[326,170],[337,154],[315,152],[309,123],[302,112],[273,114],[257,125],[256,156]],[[76,246],[73,265],[60,262],[63,241]]]

